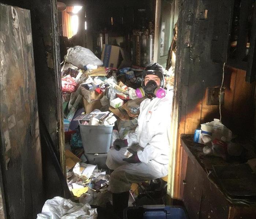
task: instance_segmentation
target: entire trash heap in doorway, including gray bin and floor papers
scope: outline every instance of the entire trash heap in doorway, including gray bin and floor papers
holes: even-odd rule
[[[67,50],[61,76],[68,188],[73,200],[104,207],[111,202],[107,152],[115,139],[123,139],[138,125],[145,98],[137,98],[135,90],[141,87],[145,68],[103,67],[102,60],[75,46]],[[167,82],[172,88],[173,80]]]

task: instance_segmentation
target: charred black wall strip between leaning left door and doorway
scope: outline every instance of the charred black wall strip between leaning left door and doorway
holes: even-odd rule
[[[34,48],[38,113],[45,122],[51,136],[53,149],[64,164],[63,112],[60,85],[59,39],[57,8],[55,0],[1,1],[30,10],[31,29]],[[43,138],[41,138],[43,139]],[[44,200],[53,196],[64,196],[63,189],[45,142],[41,142]]]

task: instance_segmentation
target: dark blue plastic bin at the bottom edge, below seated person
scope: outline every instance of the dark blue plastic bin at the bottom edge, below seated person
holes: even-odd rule
[[[123,211],[124,219],[189,219],[185,208],[181,206],[143,205],[128,207]]]

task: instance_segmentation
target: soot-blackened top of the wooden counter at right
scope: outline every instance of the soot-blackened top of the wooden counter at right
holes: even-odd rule
[[[194,135],[181,135],[181,145],[192,163],[198,163],[208,180],[232,205],[256,206],[256,175],[248,163],[205,155],[204,144],[195,143]]]

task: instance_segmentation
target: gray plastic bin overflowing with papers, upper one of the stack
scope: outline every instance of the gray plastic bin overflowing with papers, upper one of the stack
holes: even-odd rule
[[[82,143],[86,154],[105,154],[110,149],[113,125],[82,125]]]

